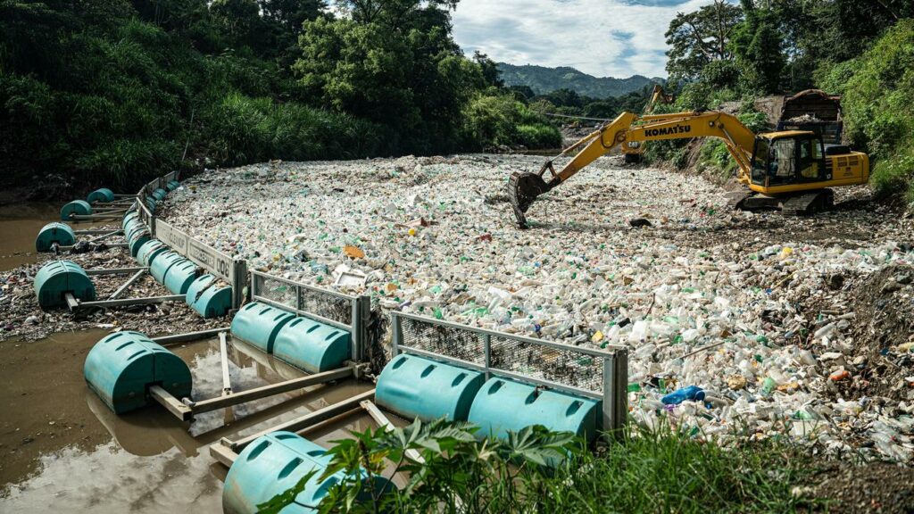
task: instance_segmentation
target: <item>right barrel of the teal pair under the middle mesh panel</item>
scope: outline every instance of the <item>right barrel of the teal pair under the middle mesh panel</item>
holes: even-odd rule
[[[320,373],[336,369],[352,355],[349,332],[307,317],[296,317],[282,327],[273,355],[298,369]]]

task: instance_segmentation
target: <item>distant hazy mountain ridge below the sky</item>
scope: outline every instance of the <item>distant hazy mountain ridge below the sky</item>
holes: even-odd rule
[[[537,94],[567,88],[591,98],[622,96],[632,91],[640,91],[644,86],[665,81],[659,78],[648,79],[642,75],[632,75],[628,79],[598,78],[567,66],[546,68],[532,64],[516,66],[499,62],[498,70],[501,71],[501,78],[508,86],[529,86]]]

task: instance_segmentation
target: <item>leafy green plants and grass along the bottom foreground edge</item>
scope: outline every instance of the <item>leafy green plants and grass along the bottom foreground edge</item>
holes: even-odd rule
[[[336,441],[319,480],[344,472],[322,513],[364,512],[785,512],[810,503],[792,494],[810,472],[790,447],[722,449],[670,427],[633,429],[596,452],[569,433],[528,427],[477,437],[469,423],[416,421]],[[403,473],[404,487],[378,487]],[[305,483],[260,506],[279,512]],[[383,491],[383,494],[382,494]]]

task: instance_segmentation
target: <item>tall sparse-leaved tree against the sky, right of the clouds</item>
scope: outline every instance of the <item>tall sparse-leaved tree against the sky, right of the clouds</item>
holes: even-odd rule
[[[696,79],[708,63],[733,59],[730,37],[742,19],[737,5],[714,0],[691,13],[679,13],[666,31],[666,71],[673,79]]]

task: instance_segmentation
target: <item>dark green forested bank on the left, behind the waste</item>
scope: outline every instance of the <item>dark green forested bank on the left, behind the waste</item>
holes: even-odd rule
[[[554,147],[468,59],[456,1],[0,0],[5,187],[133,187],[177,167]]]

